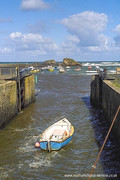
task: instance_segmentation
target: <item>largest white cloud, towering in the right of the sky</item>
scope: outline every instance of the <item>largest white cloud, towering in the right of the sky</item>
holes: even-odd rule
[[[82,47],[104,44],[105,36],[101,32],[105,29],[107,22],[106,14],[92,11],[85,11],[61,20],[68,32],[79,38],[79,46]]]

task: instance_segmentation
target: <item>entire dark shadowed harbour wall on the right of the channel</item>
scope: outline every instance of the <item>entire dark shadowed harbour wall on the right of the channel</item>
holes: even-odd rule
[[[111,124],[115,113],[120,105],[120,75],[112,75],[102,80],[99,75],[92,76],[91,80],[91,104],[102,109],[106,120]],[[117,135],[120,135],[120,112],[116,118],[113,129]]]

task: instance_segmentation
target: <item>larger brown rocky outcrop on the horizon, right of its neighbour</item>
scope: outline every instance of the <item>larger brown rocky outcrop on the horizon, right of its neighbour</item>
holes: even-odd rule
[[[70,58],[64,58],[62,64],[63,64],[64,66],[81,66],[80,63],[78,63],[78,62],[75,61],[74,59],[70,59]]]

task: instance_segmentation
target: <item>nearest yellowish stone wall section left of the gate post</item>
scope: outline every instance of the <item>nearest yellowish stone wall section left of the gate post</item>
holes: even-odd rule
[[[16,81],[0,84],[0,129],[18,113],[17,102]]]

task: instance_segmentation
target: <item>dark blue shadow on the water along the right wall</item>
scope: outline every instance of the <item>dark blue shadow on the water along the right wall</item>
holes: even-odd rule
[[[104,118],[102,110],[92,107],[89,96],[83,97],[82,99],[89,109],[90,121],[95,133],[95,140],[99,149],[101,149],[109,130],[110,123]],[[105,175],[108,175],[106,179],[120,179],[120,142],[118,141],[118,137],[113,130],[111,130],[111,133],[106,141],[100,156],[100,161]]]

